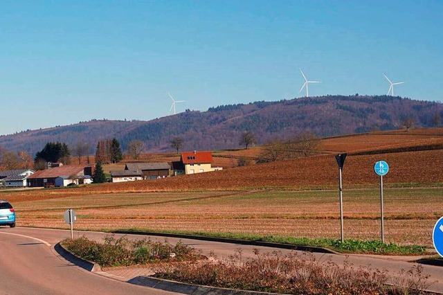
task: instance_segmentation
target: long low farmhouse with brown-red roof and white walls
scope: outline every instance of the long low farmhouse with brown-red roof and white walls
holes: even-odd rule
[[[90,184],[92,175],[91,166],[60,166],[46,170],[39,170],[28,177],[28,186],[31,187],[49,187],[56,186],[55,180],[57,178],[57,185],[64,186],[65,184]]]

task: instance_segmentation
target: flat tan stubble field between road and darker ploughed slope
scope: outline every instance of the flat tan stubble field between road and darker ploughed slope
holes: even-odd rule
[[[379,238],[379,191],[345,190],[345,238]],[[443,188],[385,191],[387,242],[432,246],[433,224],[443,215]],[[105,206],[108,204],[108,206]],[[64,208],[62,208],[64,207]],[[76,229],[145,229],[339,238],[338,192],[249,191],[83,195],[17,202],[17,225]]]

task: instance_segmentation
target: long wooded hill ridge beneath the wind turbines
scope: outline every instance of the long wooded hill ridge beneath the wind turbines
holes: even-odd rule
[[[288,139],[304,131],[318,136],[398,129],[412,118],[415,127],[432,127],[443,117],[443,104],[392,96],[323,96],[278,102],[211,107],[186,111],[150,121],[91,120],[62,127],[0,136],[0,147],[35,154],[48,141],[75,145],[84,141],[94,152],[98,139],[117,138],[123,149],[140,139],[146,151],[172,151],[172,137],[183,138],[183,150],[217,150],[239,147],[244,131],[257,135],[259,143]]]

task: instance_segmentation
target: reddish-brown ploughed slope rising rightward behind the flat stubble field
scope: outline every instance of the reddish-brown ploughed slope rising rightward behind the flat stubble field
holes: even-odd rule
[[[428,150],[432,147],[432,150]],[[347,184],[378,184],[374,163],[383,159],[390,165],[385,181],[388,184],[436,184],[443,182],[443,128],[415,129],[409,132],[371,132],[324,138],[319,154],[287,161],[276,161],[247,167],[170,177],[135,183],[106,184],[89,187],[93,191],[150,190],[226,190],[260,187],[302,188],[334,186],[338,167],[334,155],[347,152],[343,179]],[[368,154],[360,154],[362,152]],[[223,151],[214,154],[219,159],[248,156],[254,158],[260,147],[248,150]],[[168,158],[159,161],[167,161]],[[224,158],[226,157],[226,158]],[[221,166],[223,166],[221,164]]]

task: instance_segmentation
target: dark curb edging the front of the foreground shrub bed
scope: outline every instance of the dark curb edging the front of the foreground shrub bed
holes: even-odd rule
[[[209,287],[201,285],[191,285],[187,283],[179,283],[174,280],[163,280],[160,278],[152,278],[149,276],[137,276],[128,280],[128,283],[141,285],[155,289],[162,289],[170,292],[179,292],[190,295],[271,295],[277,293],[255,292],[219,287]]]

